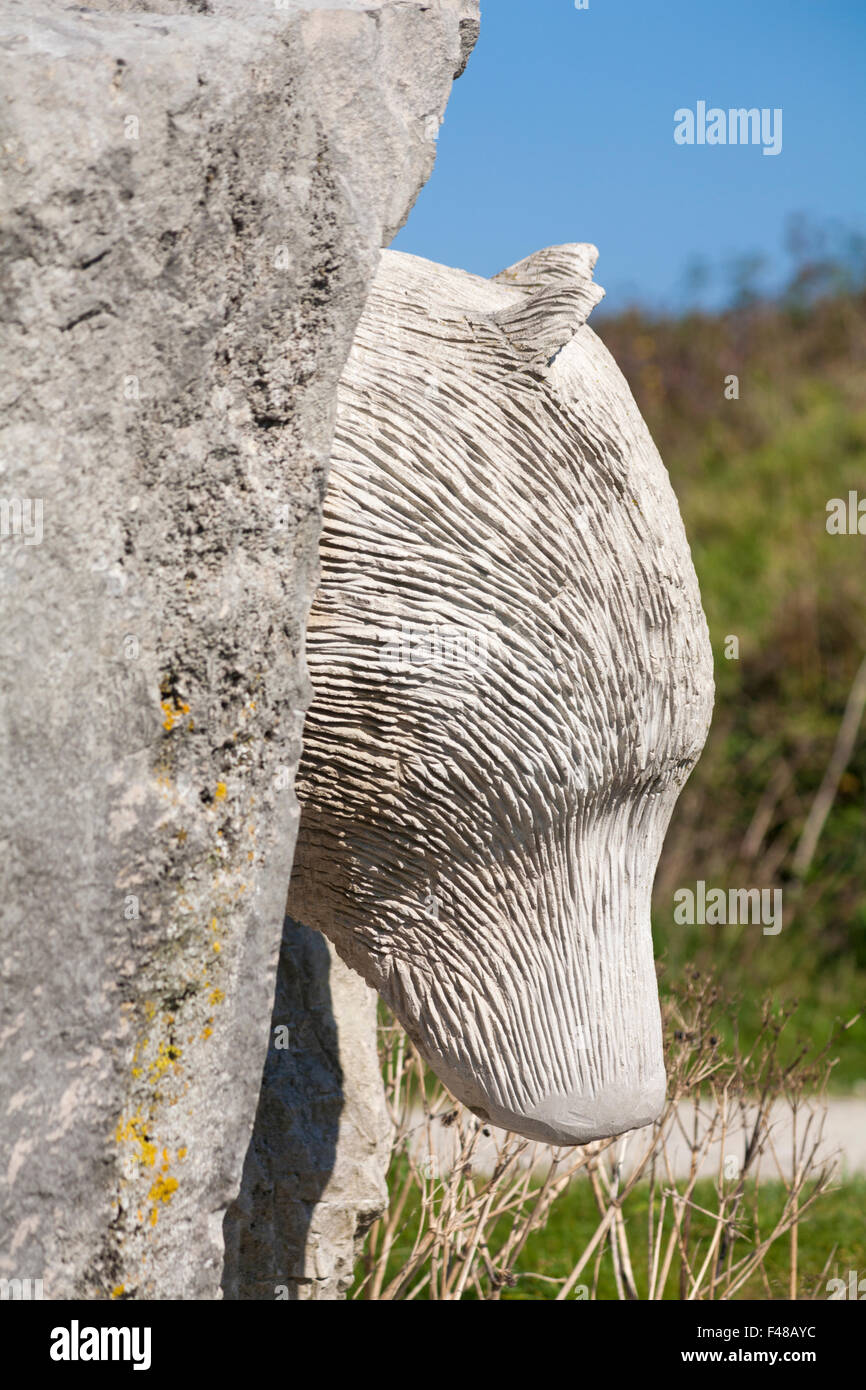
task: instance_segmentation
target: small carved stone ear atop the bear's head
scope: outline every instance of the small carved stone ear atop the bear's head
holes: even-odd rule
[[[605,297],[592,282],[596,260],[598,250],[588,242],[548,246],[493,275],[498,285],[523,292],[492,318],[510,342],[528,349],[534,364],[549,366]]]

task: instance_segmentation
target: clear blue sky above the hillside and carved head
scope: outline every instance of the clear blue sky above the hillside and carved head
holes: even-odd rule
[[[674,111],[781,107],[783,149],[678,146]],[[434,175],[393,243],[491,275],[595,242],[605,307],[676,309],[685,272],[767,259],[785,227],[866,232],[866,0],[482,0]]]

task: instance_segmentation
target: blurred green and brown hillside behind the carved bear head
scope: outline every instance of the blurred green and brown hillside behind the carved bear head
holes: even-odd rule
[[[713,728],[656,878],[657,947],[671,974],[712,963],[746,1030],[748,999],[770,991],[823,1037],[866,998],[863,728],[803,883],[792,856],[866,652],[866,537],[826,530],[831,498],[866,498],[866,293],[816,300],[813,284],[801,267],[780,303],[632,310],[599,332],[670,471],[716,657]],[[676,926],[673,894],[698,878],[781,887],[781,934]],[[845,1033],[837,1086],[863,1077],[865,1037],[863,1022]]]

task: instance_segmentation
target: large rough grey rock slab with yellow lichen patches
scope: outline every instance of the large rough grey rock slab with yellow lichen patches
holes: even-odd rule
[[[4,3],[0,1273],[46,1297],[218,1293],[336,381],[475,29]]]

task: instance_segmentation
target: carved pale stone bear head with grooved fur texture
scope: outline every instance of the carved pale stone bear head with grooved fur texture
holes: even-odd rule
[[[341,385],[289,909],[485,1120],[664,1098],[649,899],[712,710],[667,473],[585,324],[591,246],[385,253]]]

